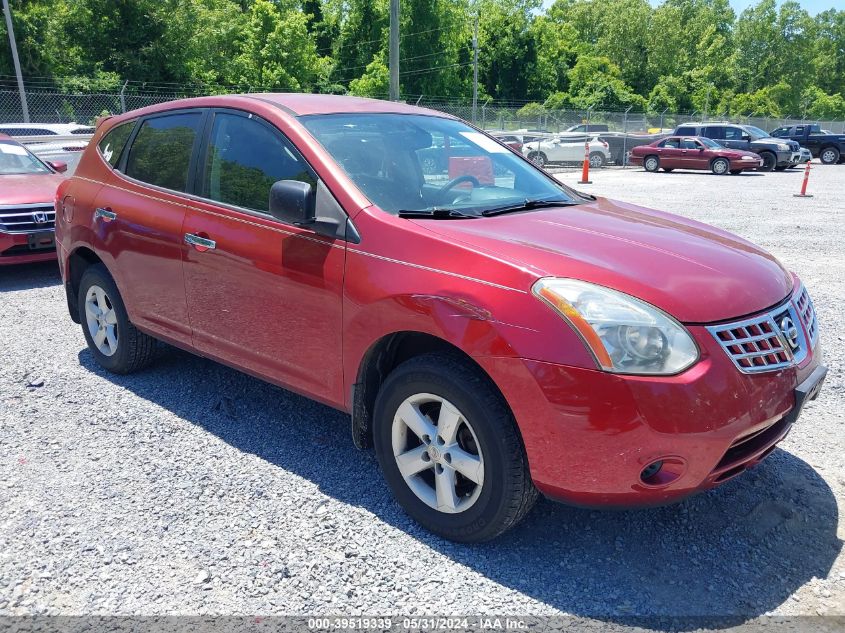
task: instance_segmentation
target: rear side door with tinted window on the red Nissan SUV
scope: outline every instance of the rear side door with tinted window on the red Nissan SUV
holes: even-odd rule
[[[133,323],[189,343],[182,282],[185,192],[192,186],[204,110],[145,117],[95,199],[93,230],[116,262],[114,274]],[[115,159],[111,145],[100,148]]]

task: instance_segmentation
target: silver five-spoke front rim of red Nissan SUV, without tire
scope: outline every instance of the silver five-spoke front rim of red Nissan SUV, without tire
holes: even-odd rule
[[[456,514],[478,500],[484,456],[469,421],[445,398],[406,398],[393,418],[392,445],[408,488],[430,508]]]

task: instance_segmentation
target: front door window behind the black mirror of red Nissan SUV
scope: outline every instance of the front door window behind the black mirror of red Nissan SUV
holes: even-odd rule
[[[266,212],[277,180],[317,179],[293,145],[268,125],[237,114],[216,114],[205,158],[202,195]]]

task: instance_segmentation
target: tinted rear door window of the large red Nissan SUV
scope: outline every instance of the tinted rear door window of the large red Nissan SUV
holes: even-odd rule
[[[142,182],[185,191],[188,166],[202,114],[168,114],[141,124],[126,162],[126,175]]]

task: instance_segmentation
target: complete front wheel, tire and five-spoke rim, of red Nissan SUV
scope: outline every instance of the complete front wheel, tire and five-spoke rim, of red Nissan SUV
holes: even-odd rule
[[[489,379],[455,356],[396,368],[376,399],[373,433],[399,504],[445,538],[490,540],[537,498],[513,415]]]

